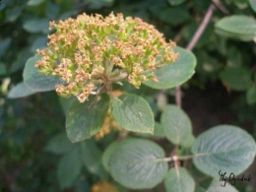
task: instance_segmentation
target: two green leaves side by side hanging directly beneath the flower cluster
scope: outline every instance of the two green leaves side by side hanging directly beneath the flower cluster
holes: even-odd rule
[[[102,128],[109,105],[110,97],[107,95],[91,96],[84,103],[74,100],[66,119],[69,139],[79,142],[95,135]],[[154,131],[153,112],[149,103],[141,96],[125,94],[112,98],[111,114],[126,130],[141,133]]]

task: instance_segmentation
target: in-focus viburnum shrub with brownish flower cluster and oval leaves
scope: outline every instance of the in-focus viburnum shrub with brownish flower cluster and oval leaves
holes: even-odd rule
[[[175,88],[194,74],[193,53],[176,47],[171,40],[166,42],[154,26],[121,14],[105,18],[83,14],[77,19],[51,22],[50,30],[47,47],[28,60],[24,83],[9,96],[56,90],[59,96],[67,97],[67,136],[81,145],[63,149],[72,150],[67,150],[70,156],[60,161],[62,188],[75,181],[81,161],[90,172],[103,174],[104,170],[96,171],[100,165],[94,163],[102,160],[112,178],[130,189],[153,188],[164,180],[167,192],[202,191],[183,163],[192,159],[199,170],[210,176],[210,181],[205,181],[207,189],[220,191],[220,171],[237,175],[254,160],[255,141],[244,130],[220,125],[195,138],[192,123],[180,106],[163,106],[157,122],[149,102],[130,93],[133,89],[129,85],[134,90]],[[120,134],[101,158],[92,141],[109,133],[111,126]],[[139,132],[144,139],[130,137],[138,137],[133,132]],[[159,144],[149,140],[151,137],[165,137],[175,146],[172,153],[165,154]],[[48,149],[52,149],[52,143]],[[76,163],[72,163],[72,174],[65,176],[62,171],[69,158]],[[115,190],[105,181],[101,185]],[[226,187],[235,191],[231,185]],[[93,189],[96,191],[97,186]]]

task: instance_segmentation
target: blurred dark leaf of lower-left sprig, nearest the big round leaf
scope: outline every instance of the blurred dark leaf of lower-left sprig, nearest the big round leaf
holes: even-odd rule
[[[101,163],[102,152],[92,140],[81,142],[81,158],[87,169],[103,179],[106,175]]]

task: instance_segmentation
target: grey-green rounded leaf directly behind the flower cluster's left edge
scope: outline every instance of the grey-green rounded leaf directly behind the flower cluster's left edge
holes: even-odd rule
[[[24,83],[29,89],[36,92],[54,90],[55,86],[61,83],[61,80],[53,76],[40,75],[38,69],[34,67],[39,59],[40,56],[33,56],[28,59],[23,73]]]

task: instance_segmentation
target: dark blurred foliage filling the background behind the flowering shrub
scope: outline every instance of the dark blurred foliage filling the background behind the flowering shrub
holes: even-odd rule
[[[2,0],[0,191],[125,191],[111,181],[100,160],[116,132],[99,140],[71,144],[64,128],[67,103],[55,93],[7,98],[9,91],[23,81],[27,59],[36,48],[46,45],[49,21],[83,12],[123,13],[155,25],[166,39],[185,47],[210,4],[211,1],[202,0]],[[227,15],[255,17],[255,3],[223,0],[222,4],[227,12],[214,12],[193,49],[198,60],[196,74],[182,86],[183,107],[196,135],[206,127],[224,123],[245,127],[256,138],[255,42],[229,39],[215,32],[216,23]],[[174,102],[173,90],[162,94],[143,87],[132,92],[147,98],[157,120],[164,104]],[[252,172],[256,178],[255,168]],[[249,192],[255,186],[251,182],[236,187]]]

